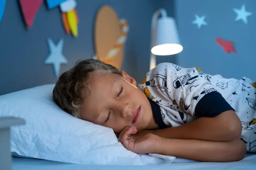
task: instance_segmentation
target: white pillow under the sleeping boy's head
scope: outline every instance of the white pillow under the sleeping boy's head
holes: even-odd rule
[[[13,155],[78,164],[159,164],[163,160],[138,155],[118,142],[111,128],[77,119],[52,100],[52,85],[0,96],[0,117],[25,119],[11,128]]]

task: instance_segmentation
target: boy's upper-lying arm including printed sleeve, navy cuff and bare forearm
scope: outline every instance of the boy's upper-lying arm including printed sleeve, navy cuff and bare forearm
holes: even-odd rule
[[[148,98],[151,96],[158,105],[167,103],[179,109],[174,109],[177,115],[173,121],[183,124],[178,111],[197,116],[198,119],[192,122],[188,120],[182,126],[154,132],[145,131],[142,134],[154,133],[166,138],[209,141],[230,141],[241,135],[241,121],[234,109],[217,92],[216,86],[210,84],[209,77],[198,68],[187,69],[170,63],[159,64],[141,83],[141,90],[145,87],[150,92],[146,94]]]

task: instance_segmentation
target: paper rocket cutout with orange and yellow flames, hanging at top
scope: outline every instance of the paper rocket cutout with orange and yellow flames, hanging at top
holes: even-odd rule
[[[60,4],[64,29],[67,34],[71,31],[74,37],[78,36],[77,24],[79,23],[76,5],[76,0],[67,0]]]

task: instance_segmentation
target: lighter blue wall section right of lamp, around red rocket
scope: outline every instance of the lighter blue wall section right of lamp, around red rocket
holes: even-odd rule
[[[252,13],[247,24],[235,21],[233,8],[241,9],[242,4]],[[208,25],[198,29],[192,24],[195,14],[205,15]],[[175,0],[175,17],[184,48],[177,54],[178,65],[226,78],[256,79],[256,0]],[[215,37],[233,41],[237,54],[225,53]]]

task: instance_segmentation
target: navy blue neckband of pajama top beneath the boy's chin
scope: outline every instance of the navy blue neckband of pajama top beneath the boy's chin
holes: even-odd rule
[[[166,128],[166,124],[163,122],[162,115],[161,115],[161,110],[159,105],[157,105],[155,102],[152,100],[148,99],[152,108],[153,116],[155,121],[157,122],[157,125],[159,126],[160,129]]]

